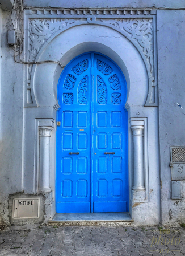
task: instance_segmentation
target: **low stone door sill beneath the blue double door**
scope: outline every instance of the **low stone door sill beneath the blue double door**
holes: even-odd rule
[[[129,213],[56,213],[49,225],[100,225],[101,223],[118,225],[133,222]]]

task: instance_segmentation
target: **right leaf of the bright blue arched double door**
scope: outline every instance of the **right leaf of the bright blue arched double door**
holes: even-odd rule
[[[94,77],[94,212],[126,212],[127,88],[119,68],[96,54]]]

